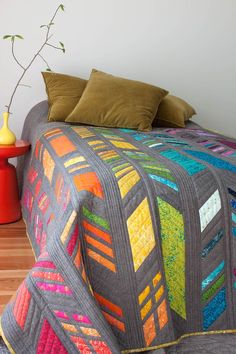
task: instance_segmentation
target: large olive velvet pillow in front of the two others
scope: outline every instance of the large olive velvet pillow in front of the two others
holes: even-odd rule
[[[148,131],[167,91],[93,69],[66,122]]]

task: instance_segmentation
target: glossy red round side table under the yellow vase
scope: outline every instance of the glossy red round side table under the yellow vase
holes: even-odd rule
[[[8,159],[24,155],[29,149],[30,143],[23,140],[17,140],[14,145],[0,145],[0,224],[21,218],[16,169]]]

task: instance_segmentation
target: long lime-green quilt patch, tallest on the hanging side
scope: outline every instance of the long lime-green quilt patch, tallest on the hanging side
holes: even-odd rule
[[[182,214],[157,198],[160,222],[162,252],[171,308],[186,319],[185,304],[185,237]]]

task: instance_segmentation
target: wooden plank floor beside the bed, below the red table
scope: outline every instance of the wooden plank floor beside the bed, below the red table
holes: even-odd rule
[[[0,225],[0,315],[34,263],[24,222]]]

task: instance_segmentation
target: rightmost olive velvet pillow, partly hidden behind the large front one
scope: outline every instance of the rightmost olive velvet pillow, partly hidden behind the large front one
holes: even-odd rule
[[[153,127],[184,128],[186,122],[196,114],[195,109],[179,97],[168,95],[161,101]]]

